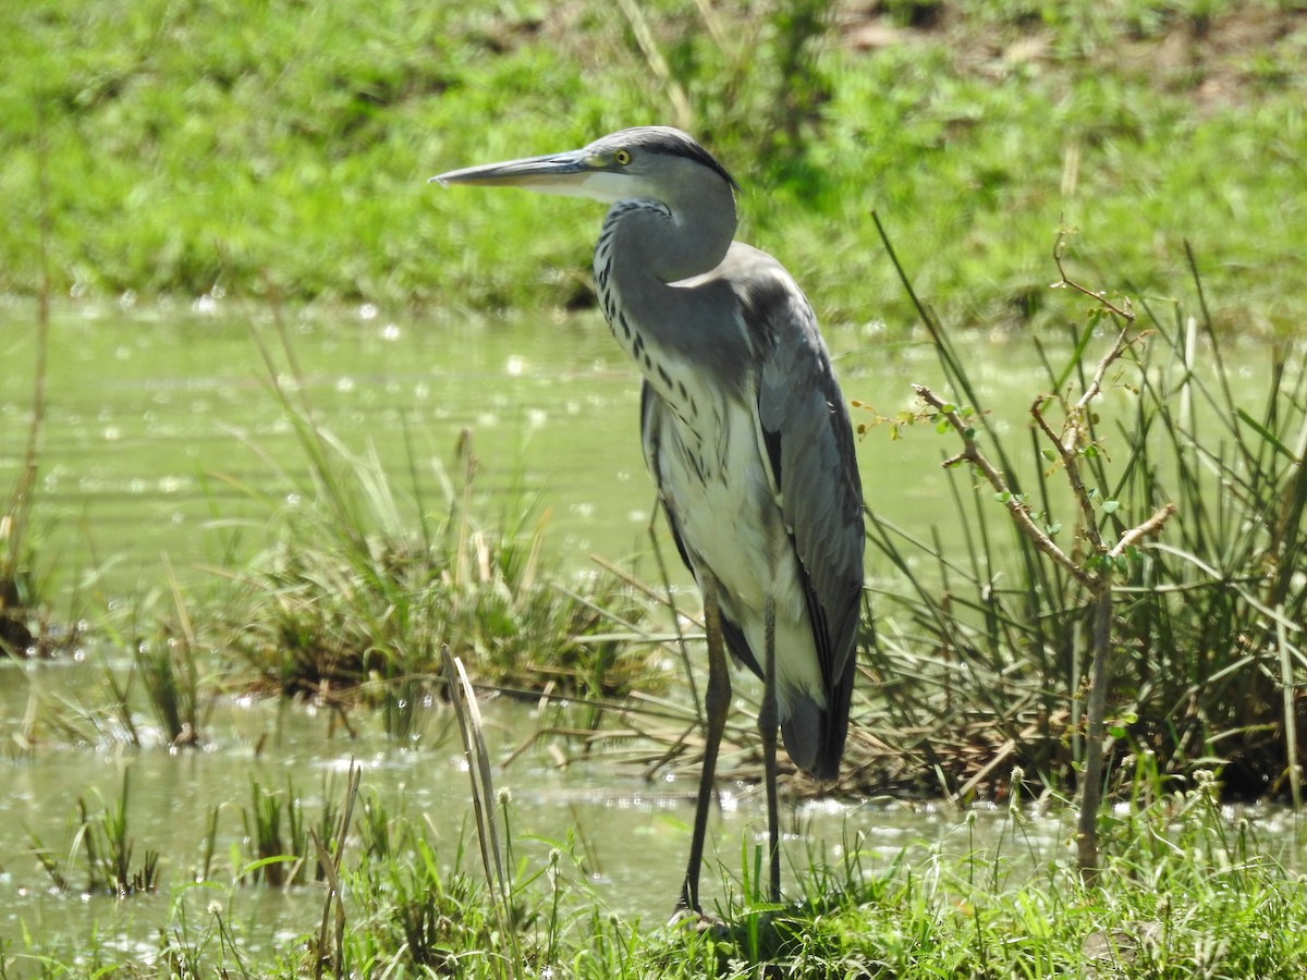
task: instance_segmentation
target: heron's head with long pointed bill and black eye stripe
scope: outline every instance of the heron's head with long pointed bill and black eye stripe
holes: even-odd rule
[[[706,180],[720,182],[728,192],[737,189],[706,149],[665,125],[622,129],[579,150],[451,170],[431,180],[446,186],[523,187],[609,204],[635,197],[669,200]]]

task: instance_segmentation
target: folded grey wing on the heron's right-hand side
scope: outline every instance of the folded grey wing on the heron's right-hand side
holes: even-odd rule
[[[799,287],[778,276],[750,301],[746,319],[762,325],[753,333],[761,353],[758,425],[766,460],[804,570],[829,707],[847,716],[864,540],[853,431],[816,316]],[[835,719],[839,729],[840,721]],[[842,746],[842,732],[838,741]]]

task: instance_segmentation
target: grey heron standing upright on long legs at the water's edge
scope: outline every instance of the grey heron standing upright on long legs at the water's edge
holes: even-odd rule
[[[644,379],[644,460],[703,595],[707,632],[706,745],[678,909],[702,915],[731,702],[723,644],[763,681],[769,883],[779,902],[776,729],[801,770],[838,775],[863,591],[852,429],[812,307],[780,263],[732,240],[737,184],[680,129],[623,129],[579,150],[431,179],[610,205],[595,285]]]

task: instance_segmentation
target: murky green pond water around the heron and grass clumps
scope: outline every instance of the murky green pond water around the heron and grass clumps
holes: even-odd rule
[[[0,306],[4,493],[18,472],[30,418],[33,323],[30,306]],[[546,521],[548,550],[572,572],[587,568],[592,553],[621,561],[648,547],[654,491],[637,438],[638,383],[596,316],[414,319],[361,307],[288,314],[285,333],[295,368],[267,310],[207,298],[150,311],[114,303],[56,311],[35,514],[38,568],[68,609],[94,615],[105,602],[166,587],[165,555],[184,587],[203,588],[216,570],[239,568],[268,547],[278,512],[302,506],[305,455],[271,391],[260,342],[284,383],[297,374],[303,379],[295,397],[312,406],[320,425],[350,451],[375,452],[408,489],[414,521],[420,508],[444,511],[452,451],[469,431],[488,520],[497,507],[531,500],[531,523]],[[925,346],[891,346],[881,336],[874,323],[847,325],[827,331],[827,342],[846,396],[893,416],[912,406],[911,382],[938,387],[940,371]],[[988,404],[1019,425],[1044,383],[1029,346],[979,335],[967,342],[975,346],[972,379]],[[935,525],[945,537],[957,533],[938,472],[955,447],[928,427],[899,442],[886,433],[874,429],[859,444],[868,499],[912,533],[928,536]],[[114,653],[108,668],[98,656],[0,665],[0,737],[12,742],[35,699],[94,703],[105,672],[123,670]],[[366,719],[356,720],[349,737],[328,712],[308,706],[223,695],[208,711],[209,742],[201,750],[43,745],[0,753],[0,942],[21,942],[26,930],[67,936],[72,947],[85,949],[93,934],[124,950],[150,947],[173,903],[195,903],[200,915],[212,900],[187,882],[200,865],[214,808],[214,868],[227,869],[230,879],[242,862],[252,780],[269,791],[289,780],[315,811],[340,800],[353,759],[365,793],[376,793],[392,813],[427,821],[451,851],[460,838],[473,839],[461,746],[439,706],[429,710],[418,747],[397,747]],[[542,724],[521,706],[490,703],[486,711],[499,760]],[[55,892],[30,853],[34,841],[76,852],[77,800],[91,811],[114,805],[124,774],[131,834],[139,853],[159,852],[163,887],[127,902],[84,896],[76,887]],[[511,789],[524,849],[548,852],[549,841],[572,832],[584,841],[601,903],[650,921],[667,916],[689,844],[693,784],[648,783],[631,767],[604,763],[559,767],[542,743],[498,770],[497,780]],[[1293,861],[1300,860],[1291,821],[1277,810],[1257,818]],[[835,858],[842,841],[857,834],[886,862],[903,848],[967,853],[997,847],[1009,827],[1001,811],[982,811],[968,827],[949,806],[894,801],[808,804],[789,808],[786,821],[787,848],[800,861],[806,847]],[[715,857],[738,869],[741,840],[763,831],[755,791],[724,787]],[[1031,860],[1064,857],[1069,840],[1065,817],[1033,814],[1022,848]],[[711,896],[707,882],[715,875],[706,877]],[[247,887],[233,895],[231,917],[251,950],[284,945],[314,929],[322,913],[314,887]]]

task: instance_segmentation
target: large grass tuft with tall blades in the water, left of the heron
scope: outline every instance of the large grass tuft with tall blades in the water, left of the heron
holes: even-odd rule
[[[285,333],[282,342],[293,366]],[[374,455],[349,452],[306,401],[280,385],[276,393],[310,464],[301,487],[308,503],[248,572],[230,645],[280,691],[374,696],[387,706],[388,730],[412,736],[410,712],[433,696],[442,644],[478,682],[533,695],[604,698],[655,678],[651,659],[614,635],[614,625],[629,630],[643,615],[618,579],[579,592],[555,585],[542,525],[524,529],[529,508],[499,531],[476,521],[471,435],[460,439],[435,528],[420,494],[400,506],[400,487]]]

